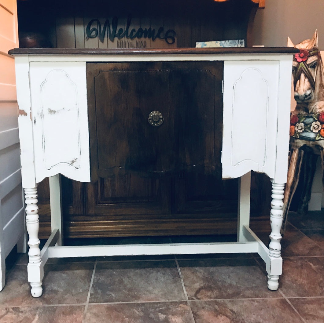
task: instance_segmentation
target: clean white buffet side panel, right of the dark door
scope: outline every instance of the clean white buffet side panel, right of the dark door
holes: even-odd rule
[[[279,61],[224,63],[223,178],[275,173]]]

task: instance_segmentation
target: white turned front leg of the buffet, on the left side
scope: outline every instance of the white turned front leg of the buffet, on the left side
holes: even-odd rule
[[[26,227],[29,234],[29,263],[27,266],[28,281],[31,286],[31,295],[34,297],[41,296],[42,280],[44,276],[43,266],[41,263],[41,250],[39,248],[40,240],[38,239],[39,218],[37,206],[37,188],[25,188],[26,198]]]

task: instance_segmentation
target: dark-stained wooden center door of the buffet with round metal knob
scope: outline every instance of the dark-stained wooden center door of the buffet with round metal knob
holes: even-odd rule
[[[93,178],[219,166],[222,79],[223,62],[88,63]]]

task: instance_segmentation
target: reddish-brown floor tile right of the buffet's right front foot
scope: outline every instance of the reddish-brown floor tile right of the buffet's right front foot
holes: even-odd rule
[[[324,296],[324,258],[284,258],[279,288],[287,297]]]

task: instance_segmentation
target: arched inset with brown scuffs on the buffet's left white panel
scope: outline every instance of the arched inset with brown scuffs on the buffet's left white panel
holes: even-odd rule
[[[40,92],[45,168],[50,170],[60,163],[80,168],[79,107],[75,83],[65,71],[52,70],[41,84]],[[63,156],[52,149],[57,145],[65,151]]]

